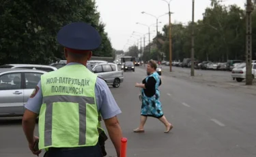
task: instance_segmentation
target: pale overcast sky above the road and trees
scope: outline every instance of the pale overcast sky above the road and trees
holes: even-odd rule
[[[223,0],[220,3],[236,4],[244,9],[246,0]],[[140,43],[141,37],[145,34],[145,44],[147,44],[149,30],[145,25],[152,25],[150,40],[156,36],[156,18],[148,14],[161,16],[158,18],[160,32],[162,27],[169,23],[169,16],[166,14],[169,12],[168,4],[163,0],[96,0],[96,5],[100,12],[100,20],[106,25],[105,31],[109,35],[111,44],[117,50],[127,51],[131,44],[138,41]],[[210,0],[195,0],[195,21],[203,18],[203,12],[207,7],[210,7]],[[171,23],[179,22],[186,25],[192,20],[192,0],[171,0],[170,9],[173,12]]]

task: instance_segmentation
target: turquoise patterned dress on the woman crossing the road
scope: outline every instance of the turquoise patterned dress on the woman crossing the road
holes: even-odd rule
[[[145,96],[144,89],[141,90],[141,96],[142,96],[142,105],[141,105],[141,115],[144,116],[150,116],[150,117],[156,117],[160,118],[163,115],[162,112],[162,104],[159,100],[160,98],[160,92],[158,90],[158,87],[160,85],[160,76],[157,72],[154,72],[153,74],[150,74],[145,78],[145,81],[147,83],[147,79],[151,76],[154,77],[156,80],[156,94],[152,97]]]

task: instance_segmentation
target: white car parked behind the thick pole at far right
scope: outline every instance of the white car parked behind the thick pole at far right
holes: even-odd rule
[[[252,63],[252,74],[253,78],[256,78],[256,63]],[[238,82],[242,82],[246,76],[246,63],[241,63],[236,68],[233,68],[231,77],[236,79]]]

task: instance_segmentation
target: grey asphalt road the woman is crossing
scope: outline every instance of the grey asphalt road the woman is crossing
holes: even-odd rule
[[[256,156],[255,96],[163,74],[160,100],[174,128],[165,134],[165,126],[149,118],[145,133],[138,134],[132,132],[139,125],[141,108],[134,84],[145,78],[145,70],[124,74],[124,83],[111,91],[123,112],[118,117],[128,138],[128,157]],[[8,119],[0,121],[0,156],[33,156],[20,120]],[[115,156],[110,140],[106,148],[108,156]]]

